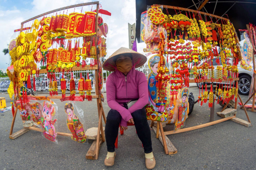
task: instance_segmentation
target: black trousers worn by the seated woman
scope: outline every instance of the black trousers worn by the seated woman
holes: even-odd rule
[[[133,116],[133,121],[137,131],[137,135],[142,141],[144,152],[152,152],[152,141],[151,141],[151,132],[146,118],[145,108],[139,109],[131,114]],[[111,109],[108,112],[107,122],[105,126],[105,136],[107,143],[108,152],[115,151],[115,142],[118,135],[119,124],[121,121],[121,115],[118,111]]]

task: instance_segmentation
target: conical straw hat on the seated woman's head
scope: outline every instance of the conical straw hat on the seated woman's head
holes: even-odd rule
[[[121,54],[131,54],[133,56],[134,64],[136,64],[135,68],[142,66],[147,61],[146,56],[143,54],[131,49],[127,49],[125,47],[121,47],[120,49],[116,50],[116,52],[114,52],[108,59],[106,59],[106,61],[104,61],[103,68],[108,71],[115,71],[114,67],[116,67],[116,64],[114,59]]]

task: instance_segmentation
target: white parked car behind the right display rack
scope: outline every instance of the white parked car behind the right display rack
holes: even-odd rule
[[[219,57],[219,62],[220,65],[222,65],[221,63],[221,58]],[[229,60],[226,60],[227,65],[232,65],[233,64],[233,58],[229,58]],[[200,63],[200,65],[202,65],[202,63]],[[213,67],[214,67],[214,77],[217,77],[217,63],[216,63],[216,58],[213,59]],[[199,65],[199,66],[200,66]],[[252,65],[252,62],[251,62]],[[238,82],[238,93],[242,94],[242,95],[248,95],[249,91],[250,91],[250,87],[251,87],[251,77],[253,75],[253,70],[252,71],[248,71],[248,70],[244,70],[243,68],[240,67],[240,62],[237,65],[238,67],[238,77],[239,77],[239,82]],[[209,77],[208,77],[209,79]],[[223,83],[223,82],[222,82]],[[210,82],[207,83],[207,85],[210,84]],[[213,85],[217,85],[219,83],[217,82],[213,82]],[[223,83],[224,84],[224,83]],[[197,83],[197,87],[198,88],[202,88],[202,85],[205,85],[205,83]]]

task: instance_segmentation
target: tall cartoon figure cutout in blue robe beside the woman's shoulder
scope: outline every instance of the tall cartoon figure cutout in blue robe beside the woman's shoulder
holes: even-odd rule
[[[150,73],[148,75],[148,93],[149,93],[149,102],[146,105],[146,114],[148,120],[153,121],[167,121],[168,114],[166,112],[166,103],[158,102],[159,96],[157,96],[157,87],[155,86],[157,80],[155,80],[155,76],[157,75],[157,66],[160,61],[160,57],[158,55],[154,55],[149,58],[148,67],[150,68]],[[164,87],[165,91],[165,101],[169,100],[168,87]],[[167,93],[166,93],[167,92]]]

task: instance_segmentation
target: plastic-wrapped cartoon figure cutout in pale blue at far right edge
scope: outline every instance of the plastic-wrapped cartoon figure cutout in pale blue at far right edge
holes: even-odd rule
[[[245,70],[252,71],[251,61],[253,58],[253,46],[251,45],[251,41],[247,31],[240,30],[240,35],[241,35],[240,46],[241,46],[241,56],[242,56],[240,67]]]

